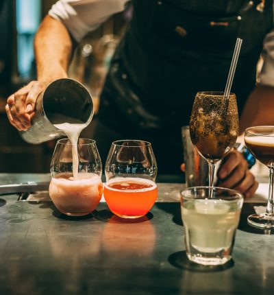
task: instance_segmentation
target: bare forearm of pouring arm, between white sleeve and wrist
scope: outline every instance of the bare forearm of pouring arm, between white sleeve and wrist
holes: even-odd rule
[[[73,43],[66,27],[51,16],[42,21],[34,38],[38,80],[67,77]]]

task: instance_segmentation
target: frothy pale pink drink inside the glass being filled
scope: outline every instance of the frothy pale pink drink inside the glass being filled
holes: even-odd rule
[[[103,184],[93,173],[58,174],[51,178],[49,195],[55,207],[66,215],[81,216],[91,213],[101,200]]]

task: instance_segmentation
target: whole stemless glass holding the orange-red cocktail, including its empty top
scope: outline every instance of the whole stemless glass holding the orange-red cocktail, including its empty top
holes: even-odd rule
[[[157,198],[157,165],[151,143],[114,141],[105,163],[105,202],[119,217],[138,218],[149,212]]]

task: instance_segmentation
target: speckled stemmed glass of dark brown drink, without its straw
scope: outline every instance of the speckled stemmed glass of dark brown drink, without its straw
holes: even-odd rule
[[[198,92],[190,117],[190,138],[209,166],[209,186],[213,187],[216,162],[229,153],[238,137],[236,95]]]

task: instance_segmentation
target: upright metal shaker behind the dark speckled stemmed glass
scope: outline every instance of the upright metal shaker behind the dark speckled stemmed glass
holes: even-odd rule
[[[208,185],[208,162],[192,144],[189,126],[182,127],[186,187]]]

